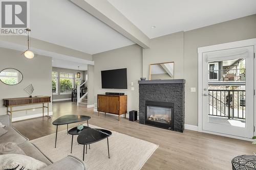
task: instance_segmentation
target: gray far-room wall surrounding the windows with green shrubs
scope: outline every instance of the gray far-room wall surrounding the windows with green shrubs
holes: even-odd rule
[[[57,71],[58,72],[58,94],[57,95],[55,95],[55,94],[53,95],[53,100],[71,99],[71,94],[60,94],[60,82],[59,82],[59,74],[60,74],[60,72],[66,72],[66,73],[74,74],[74,88],[75,88],[75,74],[78,71],[81,72],[81,81],[85,80],[85,78],[84,78],[85,77],[84,71],[81,71],[81,70],[52,67],[52,71]]]

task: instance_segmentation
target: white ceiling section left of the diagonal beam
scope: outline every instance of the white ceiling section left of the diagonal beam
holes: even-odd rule
[[[30,1],[31,37],[96,54],[134,44],[68,0]]]

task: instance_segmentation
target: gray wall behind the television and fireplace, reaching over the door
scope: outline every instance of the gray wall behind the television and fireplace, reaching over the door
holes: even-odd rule
[[[137,80],[142,76],[142,69],[143,77],[148,79],[150,64],[173,61],[174,78],[186,80],[185,124],[197,126],[198,92],[190,92],[190,87],[198,87],[197,48],[250,38],[256,38],[256,15],[151,39],[151,48],[143,49],[143,55],[142,49],[138,45],[93,55],[95,61],[94,103],[97,103],[97,94],[108,91],[125,92],[128,97],[128,111],[138,110]],[[100,70],[124,67],[127,67],[128,70],[127,90],[101,89]],[[134,82],[135,91],[131,91],[131,82]]]

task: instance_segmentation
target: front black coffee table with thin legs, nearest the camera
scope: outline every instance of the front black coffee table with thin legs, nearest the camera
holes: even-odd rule
[[[87,128],[80,132],[77,137],[77,142],[83,145],[83,156],[82,160],[84,161],[84,147],[86,146],[86,153],[87,153],[87,145],[98,142],[106,138],[108,142],[108,154],[110,158],[110,149],[109,149],[109,137],[112,135],[112,132],[105,129],[93,129]]]

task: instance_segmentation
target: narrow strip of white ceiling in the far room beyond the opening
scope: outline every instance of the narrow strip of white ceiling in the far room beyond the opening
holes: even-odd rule
[[[58,59],[52,59],[52,66],[53,67],[59,67],[59,68],[68,68],[68,69],[75,69],[85,71],[88,69],[87,64],[82,64],[82,63],[76,63],[76,62],[71,62],[71,61],[65,61],[65,60],[58,60]]]

